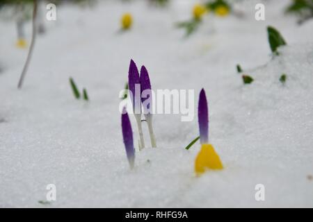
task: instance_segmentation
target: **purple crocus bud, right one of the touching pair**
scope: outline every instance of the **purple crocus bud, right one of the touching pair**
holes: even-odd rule
[[[141,102],[143,103],[144,113],[150,114],[150,104],[152,103],[152,90],[149,74],[145,66],[141,67],[141,94]]]

